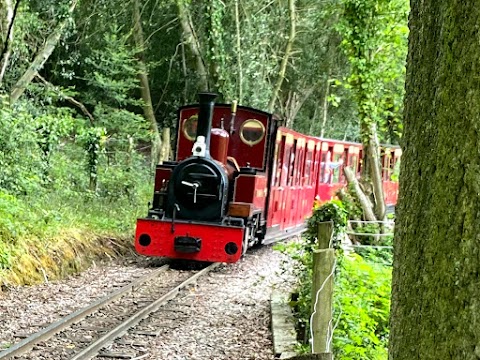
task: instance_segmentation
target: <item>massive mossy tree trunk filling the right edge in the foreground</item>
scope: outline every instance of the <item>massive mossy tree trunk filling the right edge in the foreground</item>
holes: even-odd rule
[[[391,360],[480,358],[480,8],[411,2]]]

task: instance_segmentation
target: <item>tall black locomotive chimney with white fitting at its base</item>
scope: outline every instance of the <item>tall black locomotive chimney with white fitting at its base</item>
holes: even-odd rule
[[[207,157],[210,156],[210,135],[212,131],[213,107],[215,106],[215,99],[217,96],[217,94],[213,93],[198,94],[200,99],[200,111],[198,113],[197,140],[193,145],[193,155]],[[203,136],[203,139],[200,138],[200,136]],[[197,145],[200,145],[200,148],[203,146],[204,151],[198,151],[200,148],[198,148]]]

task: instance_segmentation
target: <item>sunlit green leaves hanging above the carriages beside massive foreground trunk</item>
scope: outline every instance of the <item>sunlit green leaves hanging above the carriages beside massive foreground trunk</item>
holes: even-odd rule
[[[381,141],[396,142],[401,117],[407,51],[406,0],[343,0],[337,29],[351,67],[347,86],[353,90],[362,139],[368,124],[380,125]]]

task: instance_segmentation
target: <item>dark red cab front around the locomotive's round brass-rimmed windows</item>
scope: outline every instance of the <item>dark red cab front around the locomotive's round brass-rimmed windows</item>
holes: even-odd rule
[[[191,156],[193,141],[187,139],[182,131],[182,125],[189,117],[198,114],[198,106],[188,106],[179,111],[179,126],[177,131],[177,153],[176,160],[181,161]],[[212,127],[225,129],[230,134],[230,145],[228,156],[237,160],[240,167],[247,167],[263,170],[266,166],[267,135],[260,143],[250,146],[244,144],[240,139],[240,126],[245,120],[257,119],[265,126],[266,134],[269,133],[271,126],[271,115],[255,109],[239,106],[233,122],[232,132],[230,132],[230,121],[232,112],[230,106],[215,105]]]

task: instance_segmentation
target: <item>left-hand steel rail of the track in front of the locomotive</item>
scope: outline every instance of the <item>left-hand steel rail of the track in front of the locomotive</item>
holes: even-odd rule
[[[20,341],[19,343],[13,345],[12,347],[0,352],[0,359],[8,359],[12,356],[23,355],[28,352],[34,345],[38,344],[39,342],[46,341],[50,339],[56,333],[64,330],[65,328],[69,327],[75,322],[78,322],[94,311],[98,310],[100,307],[111,303],[112,301],[117,300],[119,297],[123,296],[126,292],[130,291],[131,289],[140,286],[142,283],[154,278],[161,272],[167,270],[169,265],[164,265],[158,268],[156,271],[148,274],[131,284],[125,285],[124,287],[112,292],[104,296],[103,298],[93,302],[92,304],[88,305],[83,309],[79,309],[62,319],[48,325],[46,328],[36,332],[35,334],[29,336],[28,338]]]

